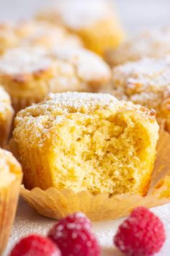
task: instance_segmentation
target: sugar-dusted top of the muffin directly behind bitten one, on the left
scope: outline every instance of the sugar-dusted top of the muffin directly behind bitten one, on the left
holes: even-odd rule
[[[23,82],[32,77],[71,77],[80,82],[107,82],[110,78],[108,65],[97,54],[86,49],[59,47],[46,51],[40,47],[13,48],[0,59],[0,77],[12,77]]]

